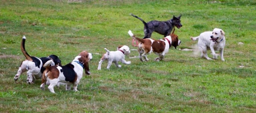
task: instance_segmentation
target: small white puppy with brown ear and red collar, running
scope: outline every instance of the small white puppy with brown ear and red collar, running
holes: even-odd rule
[[[101,60],[99,62],[98,70],[101,70],[101,64],[104,60],[108,60],[107,69],[110,68],[112,62],[115,63],[116,67],[122,67],[118,65],[118,62],[121,61],[124,64],[131,64],[131,61],[125,61],[125,55],[130,54],[130,48],[126,45],[117,47],[117,51],[109,51],[104,48],[107,52],[102,55]]]

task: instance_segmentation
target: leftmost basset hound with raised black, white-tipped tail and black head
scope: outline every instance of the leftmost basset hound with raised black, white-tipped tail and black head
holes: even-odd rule
[[[34,83],[35,79],[41,79],[43,71],[45,70],[45,68],[42,66],[48,60],[53,60],[50,66],[54,66],[54,65],[61,66],[61,61],[56,55],[50,55],[48,57],[41,57],[41,58],[30,56],[25,50],[25,41],[26,41],[26,37],[23,36],[20,48],[22,53],[26,57],[26,59],[20,64],[17,74],[14,76],[15,81],[17,81],[19,79],[19,76],[26,71],[27,71],[28,84]]]

